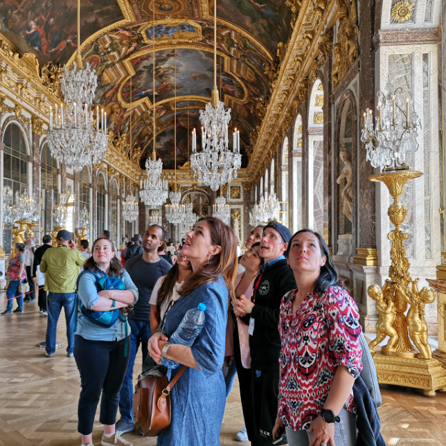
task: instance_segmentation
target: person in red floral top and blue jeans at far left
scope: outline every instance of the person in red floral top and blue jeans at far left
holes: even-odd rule
[[[25,244],[16,243],[14,247],[14,256],[8,262],[8,269],[6,270],[6,278],[9,280],[8,289],[6,290],[6,310],[1,314],[12,314],[12,303],[14,298],[17,298],[17,308],[14,313],[21,313],[24,310],[24,295],[19,292],[20,283],[26,281],[25,271]]]

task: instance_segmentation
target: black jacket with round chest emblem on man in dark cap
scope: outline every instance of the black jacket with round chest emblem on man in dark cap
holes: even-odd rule
[[[254,332],[249,336],[251,368],[255,370],[278,369],[280,337],[278,319],[280,301],[290,289],[296,288],[294,274],[286,260],[278,260],[265,266],[256,296],[251,296],[254,305],[249,319],[254,319]],[[254,285],[258,283],[258,277]],[[249,319],[245,322],[249,323]]]

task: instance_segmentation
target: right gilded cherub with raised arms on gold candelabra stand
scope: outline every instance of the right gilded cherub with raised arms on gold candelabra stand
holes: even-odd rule
[[[400,296],[411,305],[407,312],[409,335],[420,353],[415,356],[420,359],[431,359],[432,350],[427,340],[427,323],[425,319],[425,305],[435,301],[434,289],[423,287],[418,292],[417,283],[420,279],[413,280],[412,291],[409,296],[400,285],[396,287],[396,295]]]

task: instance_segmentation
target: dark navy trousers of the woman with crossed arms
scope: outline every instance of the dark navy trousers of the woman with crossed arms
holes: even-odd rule
[[[74,357],[80,373],[78,431],[89,435],[93,431],[94,416],[100,393],[102,425],[114,425],[119,405],[119,391],[123,384],[129,355],[124,356],[125,339],[121,341],[90,341],[75,335]]]

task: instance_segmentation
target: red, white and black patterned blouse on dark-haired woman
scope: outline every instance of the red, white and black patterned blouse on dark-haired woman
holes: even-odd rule
[[[346,366],[353,377],[362,370],[359,345],[359,312],[353,298],[341,287],[307,294],[292,313],[294,293],[280,304],[279,416],[283,424],[308,429],[319,416],[330,391],[337,366]],[[353,395],[346,404],[353,411]]]

